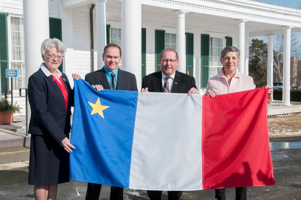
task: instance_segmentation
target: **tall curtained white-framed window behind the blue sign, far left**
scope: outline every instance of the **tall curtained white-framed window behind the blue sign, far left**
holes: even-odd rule
[[[10,17],[11,20],[11,68],[18,70],[18,77],[13,78],[13,90],[26,87],[24,59],[23,17]]]

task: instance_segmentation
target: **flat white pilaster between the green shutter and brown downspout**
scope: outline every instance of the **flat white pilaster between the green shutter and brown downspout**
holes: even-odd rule
[[[63,59],[63,72],[67,75],[71,88],[73,88],[72,73],[73,67],[73,20],[72,9],[63,8],[59,1],[60,18],[62,19],[62,42],[66,47],[66,53]],[[84,78],[84,77],[83,77]]]

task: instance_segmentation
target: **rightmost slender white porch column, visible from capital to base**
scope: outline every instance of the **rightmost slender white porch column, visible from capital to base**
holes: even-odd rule
[[[284,29],[284,52],[283,52],[283,89],[282,106],[290,104],[290,30],[292,26],[282,27]]]

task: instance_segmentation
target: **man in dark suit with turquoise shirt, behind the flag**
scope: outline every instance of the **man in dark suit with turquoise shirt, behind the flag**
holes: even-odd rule
[[[98,91],[118,89],[138,91],[134,74],[118,68],[121,59],[121,48],[116,44],[107,44],[102,54],[104,67],[86,74],[85,81]],[[98,200],[101,184],[88,183],[86,200]],[[111,186],[111,200],[123,200],[123,188]]]

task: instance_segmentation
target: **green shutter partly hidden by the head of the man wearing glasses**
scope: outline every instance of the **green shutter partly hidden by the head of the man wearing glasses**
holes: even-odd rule
[[[159,58],[165,48],[165,30],[155,30],[155,66],[156,71],[160,71]]]

